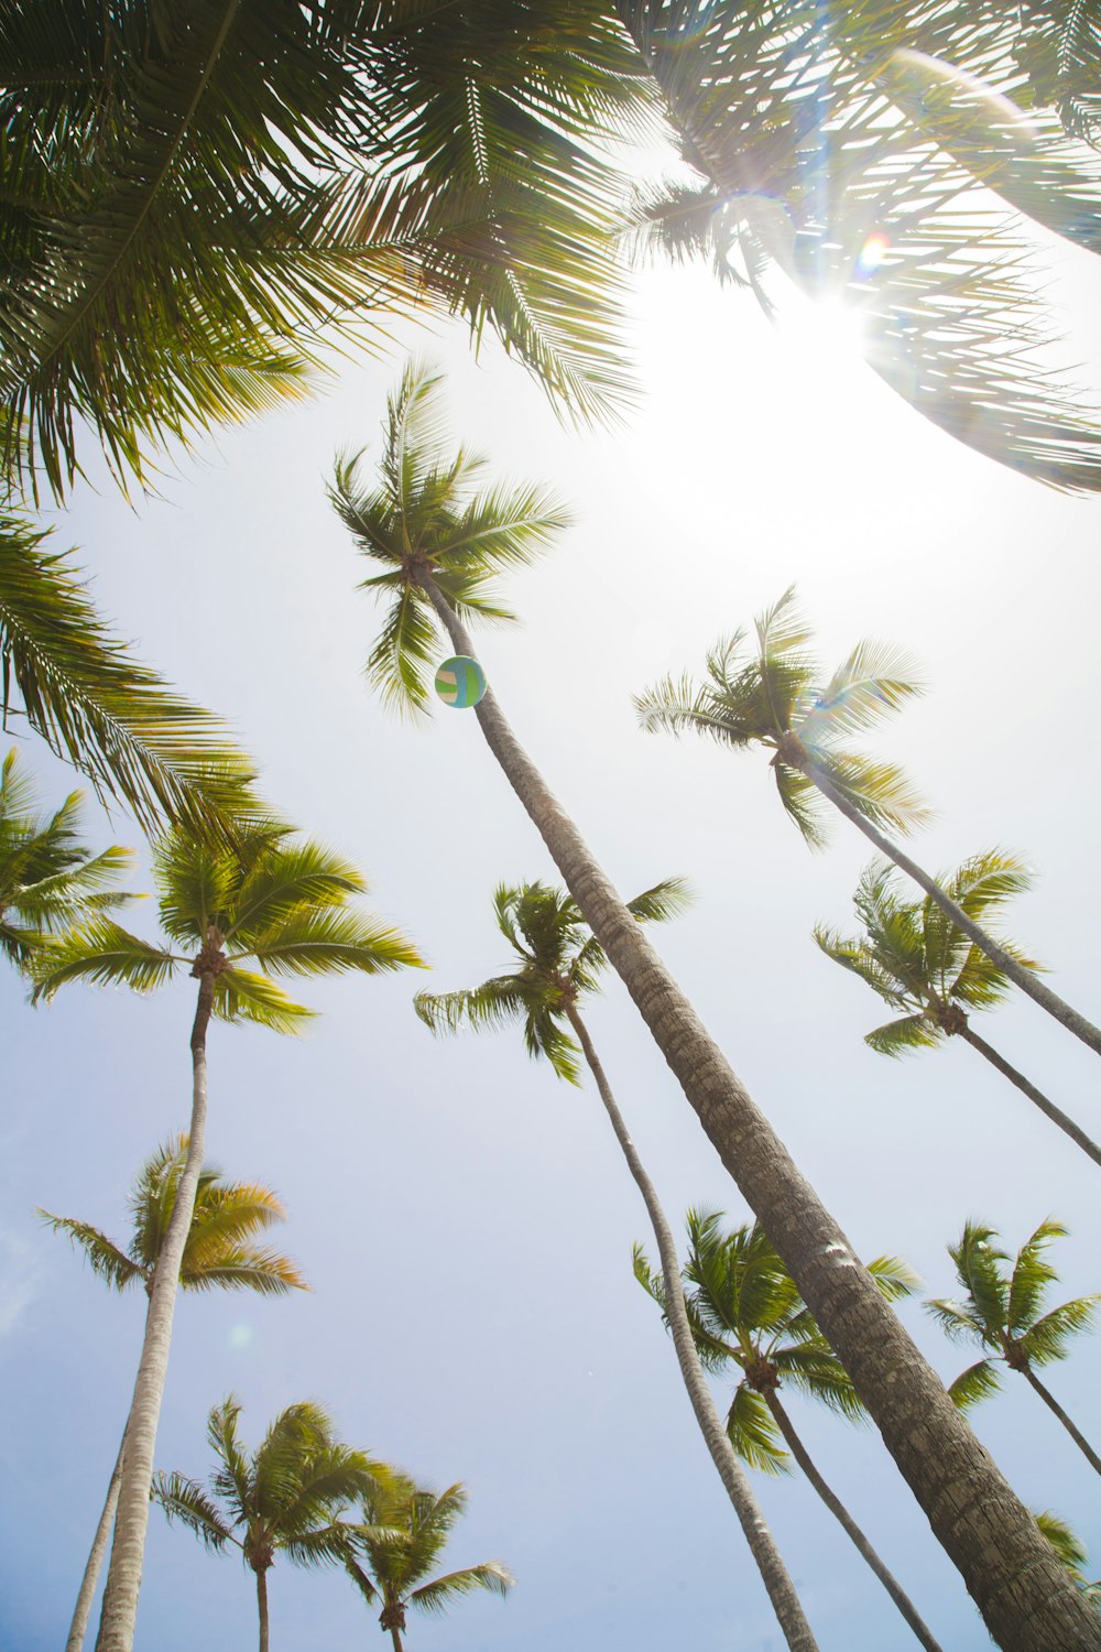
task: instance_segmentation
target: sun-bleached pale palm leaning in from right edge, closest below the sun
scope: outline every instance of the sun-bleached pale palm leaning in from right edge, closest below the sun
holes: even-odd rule
[[[1004,975],[1101,1056],[1101,1028],[1071,1009],[1035,970],[994,940],[976,919],[911,861],[881,826],[911,831],[928,818],[895,763],[855,752],[843,742],[873,727],[919,692],[911,662],[895,648],[857,643],[848,659],[820,686],[807,653],[810,633],[797,613],[794,586],[756,620],[756,659],[743,656],[744,631],[725,638],[706,656],[708,682],[665,677],[636,697],[644,729],[710,735],[744,752],[773,752],[771,768],[784,809],[810,847],[825,843],[820,798],[840,809],[880,854],[901,867],[941,912]]]

